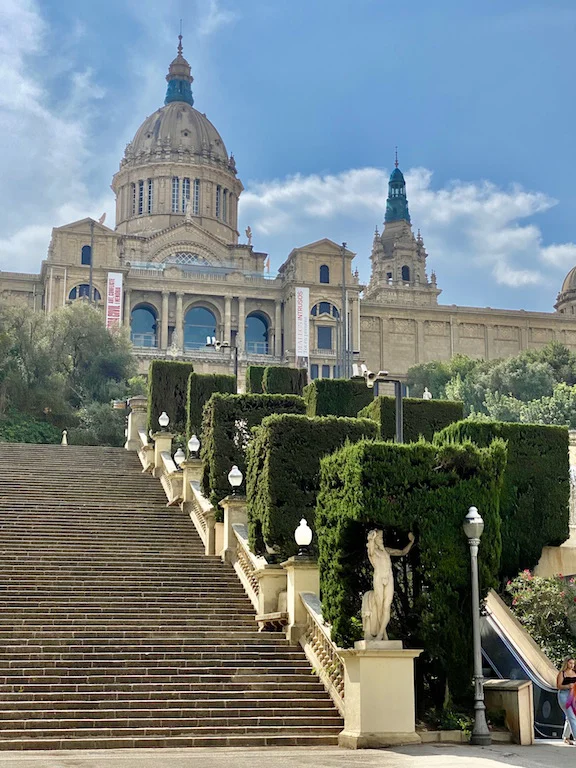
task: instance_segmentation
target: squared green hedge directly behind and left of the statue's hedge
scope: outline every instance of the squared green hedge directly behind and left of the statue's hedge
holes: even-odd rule
[[[296,554],[294,531],[302,517],[314,528],[320,459],[347,441],[375,438],[370,419],[268,416],[248,448],[248,529],[254,552]]]

